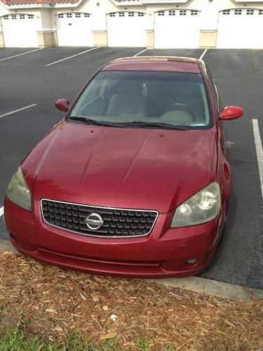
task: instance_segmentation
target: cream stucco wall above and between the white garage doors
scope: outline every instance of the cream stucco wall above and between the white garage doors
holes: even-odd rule
[[[218,13],[227,8],[263,8],[263,1],[246,1],[248,4],[234,0],[189,0],[185,4],[147,4],[138,6],[115,6],[110,0],[83,0],[77,7],[71,7],[64,4],[63,7],[54,8],[20,8],[11,9],[6,8],[0,1],[0,17],[2,15],[11,13],[30,13],[36,15],[38,20],[38,30],[41,29],[55,29],[56,15],[58,13],[67,12],[86,12],[91,13],[90,20],[93,22],[93,30],[105,31],[107,30],[107,17],[106,14],[115,11],[141,11],[147,13],[147,30],[154,29],[154,13],[156,11],[168,9],[182,9],[187,8],[191,10],[201,11],[201,30],[216,30],[218,22]],[[100,6],[97,6],[100,4]],[[245,6],[247,5],[247,6]]]

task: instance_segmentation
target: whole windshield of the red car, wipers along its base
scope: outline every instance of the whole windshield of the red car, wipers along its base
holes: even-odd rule
[[[86,86],[69,119],[123,128],[211,125],[203,77],[181,72],[101,71]]]

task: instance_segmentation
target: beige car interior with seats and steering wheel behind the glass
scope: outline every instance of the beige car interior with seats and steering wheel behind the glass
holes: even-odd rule
[[[175,126],[209,123],[203,83],[124,77],[100,81],[99,86],[94,86],[93,94],[79,99],[79,110],[74,107],[78,115],[104,117],[110,122],[150,121]],[[76,115],[74,110],[72,115]]]

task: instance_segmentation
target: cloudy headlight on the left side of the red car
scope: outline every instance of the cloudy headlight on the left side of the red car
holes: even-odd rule
[[[18,171],[15,172],[8,184],[6,196],[13,204],[25,208],[27,211],[32,210],[31,192],[20,167],[18,167]]]

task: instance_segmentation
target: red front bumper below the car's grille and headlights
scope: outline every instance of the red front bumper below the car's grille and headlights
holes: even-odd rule
[[[123,277],[187,277],[210,263],[225,222],[222,208],[203,225],[170,229],[168,214],[159,215],[147,237],[97,238],[74,234],[43,222],[40,201],[30,213],[4,204],[6,228],[15,248],[25,256],[50,265],[91,274]],[[197,258],[194,264],[187,260]]]

